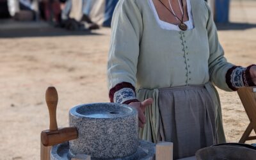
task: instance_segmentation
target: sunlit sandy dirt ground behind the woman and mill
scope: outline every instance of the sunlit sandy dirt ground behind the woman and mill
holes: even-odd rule
[[[242,66],[256,63],[255,15],[255,1],[232,1],[232,24],[219,31],[228,61]],[[58,90],[59,127],[68,126],[72,106],[109,101],[110,29],[94,33],[0,38],[0,159],[40,159],[40,132],[49,127],[47,86]],[[248,117],[236,92],[219,92],[227,140],[237,142]]]

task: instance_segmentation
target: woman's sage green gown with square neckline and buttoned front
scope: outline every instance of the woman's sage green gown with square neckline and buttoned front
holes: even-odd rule
[[[234,65],[224,57],[209,6],[203,0],[191,0],[191,10],[195,27],[174,31],[162,29],[157,24],[148,0],[120,0],[116,6],[109,49],[108,87],[131,83],[136,86],[139,100],[154,99],[145,112],[147,124],[140,130],[143,140],[155,143],[161,140],[163,125],[159,104],[163,103],[159,102],[159,90],[200,86],[204,88],[202,92],[207,92],[207,108],[212,107],[214,114],[215,124],[212,126],[213,132],[216,131],[216,142],[213,140],[212,143],[225,142],[220,99],[214,85],[232,91],[225,75]],[[188,99],[186,97],[184,101]]]

